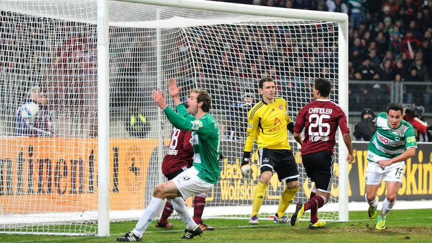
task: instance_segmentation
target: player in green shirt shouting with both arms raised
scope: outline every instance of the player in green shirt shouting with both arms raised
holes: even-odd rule
[[[135,228],[117,238],[117,241],[141,241],[145,229],[162,211],[165,204],[164,198],[170,200],[173,208],[186,223],[182,238],[190,239],[203,233],[201,227],[189,215],[183,199],[207,192],[217,183],[220,174],[219,129],[216,120],[208,113],[211,97],[205,90],[190,91],[186,108],[178,96],[181,87],[177,87],[174,79],[170,79],[168,88],[178,114],[167,105],[165,94],[160,90],[153,90],[152,98],[164,110],[174,127],[193,131],[190,140],[194,152],[193,166],[173,180],[156,186],[150,203]]]

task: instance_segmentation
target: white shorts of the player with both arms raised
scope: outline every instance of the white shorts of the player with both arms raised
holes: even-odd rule
[[[174,177],[173,182],[180,191],[183,199],[186,200],[193,195],[207,192],[212,189],[213,184],[203,181],[198,177],[198,173],[198,170],[192,166]]]

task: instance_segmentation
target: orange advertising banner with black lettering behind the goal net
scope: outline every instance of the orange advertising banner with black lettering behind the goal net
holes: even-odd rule
[[[0,138],[3,213],[97,209],[96,138]],[[110,139],[110,209],[143,209],[157,140]]]

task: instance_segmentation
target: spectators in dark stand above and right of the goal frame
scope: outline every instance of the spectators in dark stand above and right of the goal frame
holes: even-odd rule
[[[360,94],[350,90],[350,108],[362,104],[379,109],[377,104],[389,101],[390,87],[374,80],[430,82],[431,0],[253,0],[252,4],[349,15],[349,79],[367,81],[356,87]],[[430,112],[429,87],[409,83],[405,87],[404,102],[423,105]]]

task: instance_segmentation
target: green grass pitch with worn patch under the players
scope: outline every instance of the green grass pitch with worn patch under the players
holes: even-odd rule
[[[349,212],[349,222],[328,222],[325,228],[310,230],[307,221],[296,226],[260,220],[258,226],[248,220],[207,219],[216,227],[202,237],[182,240],[184,224],[170,221],[174,229],[155,228],[154,223],[143,235],[143,242],[432,242],[432,209],[394,210],[387,216],[387,229],[375,229],[376,220],[367,211]],[[109,237],[0,234],[0,242],[116,242],[116,237],[133,229],[136,221],[111,223]]]

